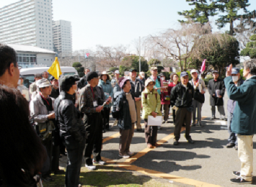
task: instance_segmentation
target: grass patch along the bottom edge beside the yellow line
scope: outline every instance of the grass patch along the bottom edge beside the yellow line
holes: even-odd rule
[[[136,175],[135,172],[124,170],[118,167],[102,167],[97,166],[98,170],[87,170],[86,167],[81,167],[80,183],[83,186],[95,186],[95,187],[176,187],[171,183],[167,183],[168,180],[163,182],[157,181],[148,175]],[[54,181],[50,183],[43,183],[44,187],[62,187],[65,183],[65,175],[52,175]]]

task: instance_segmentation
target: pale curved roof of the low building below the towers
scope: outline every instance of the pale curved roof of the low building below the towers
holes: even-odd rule
[[[34,47],[29,45],[19,45],[19,44],[6,44],[6,45],[15,49],[16,52],[35,52],[35,53],[56,54],[56,52],[50,51],[48,49],[42,49],[40,47]]]

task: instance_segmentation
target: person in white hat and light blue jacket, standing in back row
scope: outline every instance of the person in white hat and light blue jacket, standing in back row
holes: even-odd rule
[[[98,87],[102,87],[106,99],[113,98],[113,87],[110,83],[110,76],[108,75],[107,71],[102,72],[99,79]],[[103,117],[102,132],[106,132],[105,130],[109,130],[110,108],[111,108],[111,103],[109,105],[105,105],[102,110],[102,117]]]

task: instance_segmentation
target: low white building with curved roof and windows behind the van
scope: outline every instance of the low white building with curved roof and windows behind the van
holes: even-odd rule
[[[17,52],[17,62],[22,68],[50,67],[55,60],[56,52],[40,47],[19,44],[7,44]]]

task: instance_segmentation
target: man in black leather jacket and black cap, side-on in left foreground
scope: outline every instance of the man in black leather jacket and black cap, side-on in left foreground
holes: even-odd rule
[[[65,186],[78,186],[83,149],[86,143],[86,129],[78,108],[75,107],[75,90],[78,89],[75,76],[60,78],[61,94],[54,103],[56,121],[60,136],[67,148],[67,170]]]

